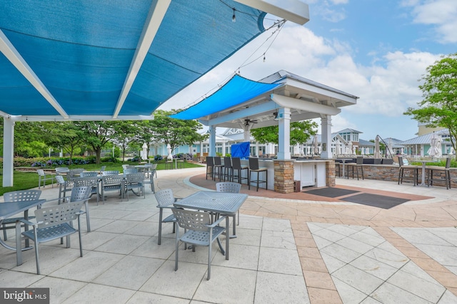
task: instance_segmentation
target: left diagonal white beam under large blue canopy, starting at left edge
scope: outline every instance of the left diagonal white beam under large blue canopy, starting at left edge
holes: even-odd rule
[[[68,118],[64,108],[57,102],[54,96],[49,92],[44,83],[41,82],[40,78],[35,74],[28,63],[22,58],[21,54],[13,46],[13,43],[9,41],[5,33],[0,30],[0,51],[4,56],[19,70],[19,73],[24,75],[26,80],[34,86],[34,88],[52,105],[57,112],[64,118]]]

